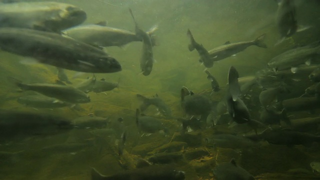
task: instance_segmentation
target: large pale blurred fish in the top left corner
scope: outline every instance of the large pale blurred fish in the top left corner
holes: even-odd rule
[[[60,33],[86,19],[83,9],[60,2],[15,2],[0,5],[0,27]]]

